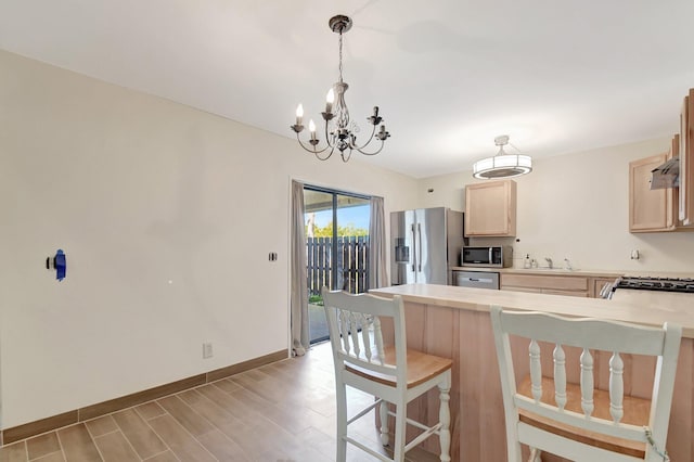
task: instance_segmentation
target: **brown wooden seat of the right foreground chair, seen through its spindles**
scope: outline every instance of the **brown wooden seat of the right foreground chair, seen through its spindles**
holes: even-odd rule
[[[530,376],[518,384],[518,393],[520,395],[532,398],[530,392]],[[583,413],[581,410],[581,388],[578,384],[566,384],[567,402],[565,409],[573,412]],[[551,377],[542,377],[542,397],[541,402],[556,406],[554,401],[554,381]],[[595,405],[593,418],[612,420],[609,415],[609,392],[603,389],[593,390],[593,401]],[[624,397],[624,418],[621,423],[646,426],[648,425],[648,413],[651,411],[651,400],[635,398],[632,396]],[[518,410],[520,422],[541,428],[554,435],[563,436],[568,439],[584,442],[590,446],[607,449],[628,455],[643,459],[645,455],[645,444],[639,444],[621,438],[609,437],[604,434],[590,432],[583,428],[577,428],[566,425],[552,419],[548,419],[524,409]]]

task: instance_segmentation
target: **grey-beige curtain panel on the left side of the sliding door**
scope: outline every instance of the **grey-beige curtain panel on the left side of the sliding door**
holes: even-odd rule
[[[292,351],[304,356],[309,347],[308,284],[306,281],[306,231],[304,183],[292,181]]]

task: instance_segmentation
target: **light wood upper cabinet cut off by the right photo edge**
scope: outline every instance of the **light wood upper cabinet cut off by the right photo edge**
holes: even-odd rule
[[[679,152],[679,218],[682,226],[694,227],[694,89],[690,89],[682,104]]]

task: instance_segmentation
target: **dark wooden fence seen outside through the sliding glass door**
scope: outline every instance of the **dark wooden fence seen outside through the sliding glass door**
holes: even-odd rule
[[[367,292],[369,284],[369,236],[337,238],[337,286],[332,287],[332,238],[306,240],[307,281],[309,295],[321,287],[340,288],[351,294]]]

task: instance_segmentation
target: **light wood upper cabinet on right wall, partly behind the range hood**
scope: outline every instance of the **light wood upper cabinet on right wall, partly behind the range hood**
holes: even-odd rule
[[[629,164],[629,231],[671,231],[676,221],[676,188],[652,190],[651,171],[672,157],[672,150]]]

